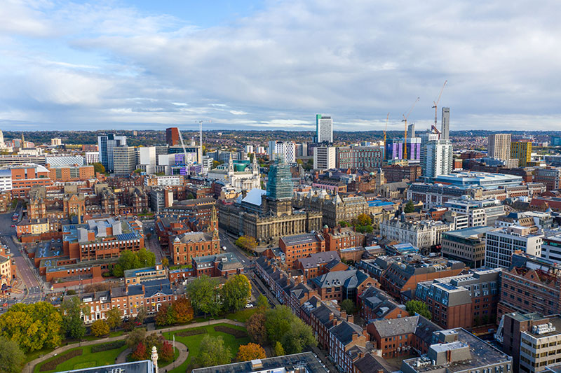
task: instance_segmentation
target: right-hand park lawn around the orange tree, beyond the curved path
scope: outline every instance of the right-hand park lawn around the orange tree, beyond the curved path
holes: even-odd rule
[[[231,358],[232,359],[234,359],[236,357],[236,353],[238,353],[238,349],[239,349],[241,344],[250,343],[249,337],[237,338],[236,339],[236,337],[234,337],[233,335],[229,335],[229,334],[223,333],[223,332],[216,332],[214,330],[214,327],[219,326],[219,325],[228,326],[229,328],[234,328],[234,329],[238,329],[238,330],[245,330],[245,328],[242,328],[240,326],[222,323],[222,324],[203,326],[203,327],[200,327],[200,328],[185,329],[185,330],[199,330],[199,329],[205,329],[206,330],[206,333],[204,333],[204,334],[190,335],[189,337],[180,337],[180,336],[177,335],[177,333],[182,332],[183,330],[178,330],[176,332],[165,332],[165,333],[163,333],[163,337],[165,337],[165,339],[170,339],[170,340],[172,339],[172,336],[175,335],[175,340],[177,342],[181,342],[182,344],[187,346],[187,348],[189,349],[189,357],[187,358],[187,361],[185,363],[183,363],[182,365],[180,365],[179,367],[176,367],[174,370],[170,370],[170,373],[184,373],[184,372],[187,372],[187,367],[189,367],[189,365],[191,365],[191,360],[193,360],[193,358],[195,358],[198,355],[198,347],[201,344],[201,341],[203,340],[203,337],[205,335],[222,336],[222,338],[224,339],[224,344],[227,347],[229,347],[230,350],[231,350]]]

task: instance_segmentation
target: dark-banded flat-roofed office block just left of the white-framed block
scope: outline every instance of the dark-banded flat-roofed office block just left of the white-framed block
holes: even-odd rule
[[[442,256],[464,262],[467,267],[485,265],[485,235],[493,227],[471,227],[442,233]]]

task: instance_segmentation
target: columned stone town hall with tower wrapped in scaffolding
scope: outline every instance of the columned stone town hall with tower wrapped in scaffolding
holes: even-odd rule
[[[239,202],[219,202],[219,225],[234,234],[255,237],[259,244],[287,234],[320,230],[321,213],[292,209],[293,192],[288,164],[273,164],[266,191],[252,189]]]

